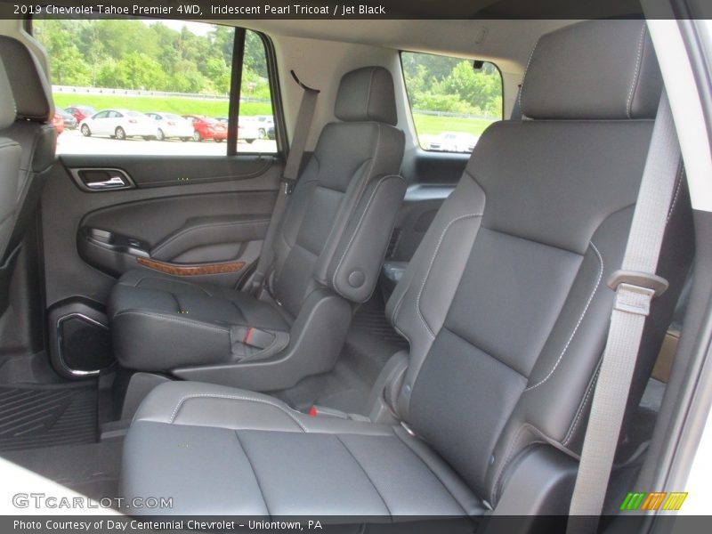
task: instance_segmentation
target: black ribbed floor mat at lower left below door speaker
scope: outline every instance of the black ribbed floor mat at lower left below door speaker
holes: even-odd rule
[[[96,384],[0,387],[0,450],[97,439]]]

